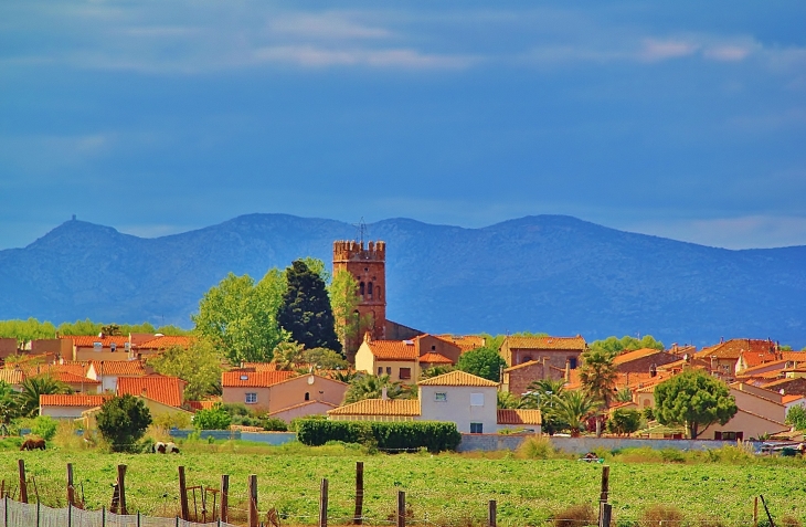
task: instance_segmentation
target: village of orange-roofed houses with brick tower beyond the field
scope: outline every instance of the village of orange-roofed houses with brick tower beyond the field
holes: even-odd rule
[[[197,336],[61,335],[26,342],[0,339],[0,358],[6,362],[0,382],[15,392],[25,390],[30,379],[57,383],[61,389],[38,394],[39,408],[32,414],[72,421],[86,434],[95,429],[95,415],[106,401],[128,394],[145,403],[155,423],[173,430],[192,428],[197,412],[223,405],[271,420],[275,423],[271,430],[285,429],[277,423],[288,425],[314,417],[453,422],[467,436],[463,439],[466,449],[496,447],[473,443],[475,435],[541,432],[649,442],[688,438],[794,444],[804,440],[787,415],[797,414],[793,408],[806,407],[806,352],[772,339],[729,338],[701,349],[632,339],[628,346],[603,354],[596,350],[601,342],[590,345],[581,335],[510,335],[498,344],[477,335],[432,335],[386,318],[383,242],[337,241],[332,266],[333,274],[347,271],[354,277],[354,316],[365,322],[361,335],[356,331],[352,341],[347,337],[343,367],[322,368],[299,356],[291,360],[277,356],[265,362],[223,361],[220,392],[190,398],[188,380],[160,375],[152,365],[166,350],[191,349]],[[647,341],[653,347],[639,347]],[[481,373],[478,367],[463,368],[463,362],[474,363],[469,359],[490,345],[497,352],[492,375]],[[604,365],[596,366],[592,379],[585,366],[602,361],[603,355]],[[662,424],[656,415],[656,388],[692,371],[721,383],[735,404],[729,419],[704,423],[694,438],[687,423]],[[374,386],[374,391],[364,388],[362,394],[349,396],[357,383]],[[560,415],[554,405],[563,405],[561,392],[588,399],[576,413],[565,409]],[[242,420],[227,429],[264,431],[259,423],[243,421],[250,422]]]

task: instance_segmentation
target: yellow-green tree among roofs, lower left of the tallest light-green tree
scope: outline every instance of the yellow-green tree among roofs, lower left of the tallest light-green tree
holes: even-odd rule
[[[184,399],[194,401],[214,393],[221,382],[221,354],[209,340],[194,339],[187,348],[172,346],[147,362],[163,376],[188,381]]]

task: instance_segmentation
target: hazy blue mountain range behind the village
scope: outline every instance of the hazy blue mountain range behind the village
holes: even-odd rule
[[[556,215],[484,229],[393,219],[368,231],[388,243],[388,316],[423,330],[806,345],[806,246],[729,251]],[[298,256],[330,262],[332,241],[353,238],[347,223],[283,214],[157,239],[68,221],[0,251],[0,318],[188,327],[227,272],[259,278]]]

